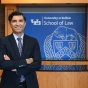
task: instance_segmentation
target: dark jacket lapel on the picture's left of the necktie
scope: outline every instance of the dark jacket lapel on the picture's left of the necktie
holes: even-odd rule
[[[10,42],[11,42],[10,44],[11,44],[12,49],[14,50],[14,53],[16,53],[17,57],[20,58],[20,54],[19,54],[17,44],[16,44],[13,34],[11,34],[9,38],[10,38]]]

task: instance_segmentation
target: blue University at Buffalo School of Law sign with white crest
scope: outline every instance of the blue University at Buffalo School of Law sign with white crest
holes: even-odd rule
[[[38,39],[42,60],[85,59],[86,13],[24,12],[23,14],[27,18],[24,32]]]

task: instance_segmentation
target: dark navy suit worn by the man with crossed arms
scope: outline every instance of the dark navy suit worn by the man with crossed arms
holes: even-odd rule
[[[3,54],[11,60],[4,60]],[[27,58],[34,62],[27,64]],[[39,88],[36,72],[41,67],[41,54],[38,41],[24,34],[23,52],[20,57],[13,34],[0,39],[0,69],[3,69],[0,88],[19,88],[19,76],[26,78],[27,88]],[[17,69],[17,72],[11,71]]]

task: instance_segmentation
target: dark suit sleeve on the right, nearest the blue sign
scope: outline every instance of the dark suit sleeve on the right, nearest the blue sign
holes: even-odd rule
[[[35,48],[34,48],[34,53],[33,53],[33,63],[25,66],[25,67],[22,67],[22,68],[19,68],[18,69],[18,74],[21,75],[21,74],[27,74],[29,72],[32,72],[32,71],[37,71],[40,69],[41,67],[41,53],[40,53],[40,47],[39,47],[39,43],[37,40],[35,40]]]

